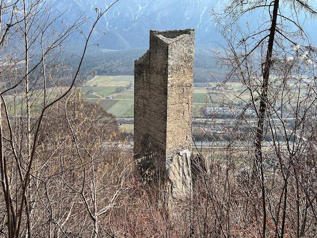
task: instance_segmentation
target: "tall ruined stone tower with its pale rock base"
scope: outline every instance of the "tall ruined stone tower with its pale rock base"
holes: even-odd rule
[[[150,30],[135,61],[134,153],[145,176],[159,174],[165,199],[191,195],[195,29]]]

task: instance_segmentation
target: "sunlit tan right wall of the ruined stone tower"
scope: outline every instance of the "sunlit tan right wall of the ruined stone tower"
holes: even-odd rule
[[[195,30],[177,36],[168,48],[166,164],[172,156],[192,151],[192,95]]]

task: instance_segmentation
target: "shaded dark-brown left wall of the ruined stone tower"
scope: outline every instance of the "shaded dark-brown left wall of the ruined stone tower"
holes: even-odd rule
[[[156,36],[156,31],[150,31],[150,49],[135,61],[135,154],[138,158],[155,155],[163,162],[168,45]]]

